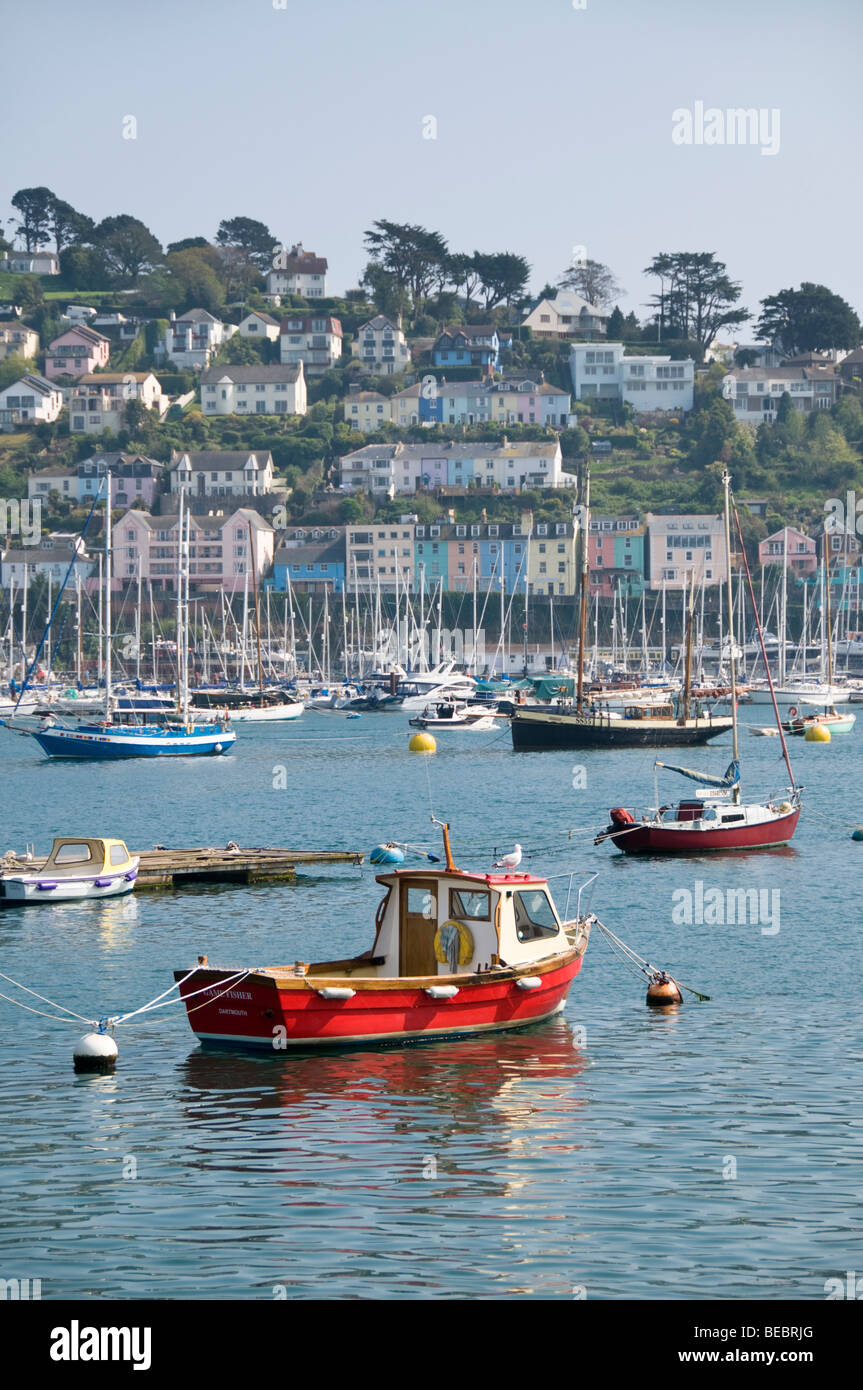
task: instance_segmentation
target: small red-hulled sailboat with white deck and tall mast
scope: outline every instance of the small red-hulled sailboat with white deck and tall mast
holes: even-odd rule
[[[725,549],[728,555],[728,612],[731,607],[731,480],[728,471],[723,474],[725,489]],[[667,767],[670,771],[681,773],[693,781],[700,783],[698,792],[688,799],[681,799],[675,805],[657,806],[645,813],[630,810],[625,806],[614,806],[610,812],[610,824],[599,833],[595,844],[610,840],[618,849],[628,855],[685,855],[705,853],[707,851],[724,849],[766,849],[777,845],[787,845],[792,838],[800,817],[800,788],[794,778],[785,733],[780,720],[780,712],[773,688],[773,677],[767,664],[762,624],[752,588],[749,562],[743,549],[741,523],[734,507],[734,520],[741,543],[741,555],[746,571],[749,596],[755,613],[762,657],[773,710],[775,716],[778,735],[782,744],[782,755],[788,769],[789,785],[781,796],[766,801],[741,801],[741,774],[738,749],[738,701],[737,701],[737,673],[734,659],[734,642],[730,645],[731,667],[731,716],[734,756],[724,777],[710,773],[696,771],[691,767],[678,767],[670,763],[657,762],[656,767]],[[689,614],[692,619],[692,614]],[[692,621],[687,635],[687,685],[691,678],[692,660]],[[659,796],[656,798],[659,801]]]

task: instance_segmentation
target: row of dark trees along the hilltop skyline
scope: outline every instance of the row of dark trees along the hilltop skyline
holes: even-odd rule
[[[231,297],[249,296],[263,288],[263,275],[283,250],[267,224],[253,217],[224,218],[211,240],[188,236],[163,250],[139,218],[120,213],[96,222],[49,188],[19,189],[11,204],[25,249],[53,242],[67,282],[82,291],[136,285],[165,311],[192,304],[217,309]],[[363,242],[368,261],[359,289],[347,297],[367,297],[389,317],[416,322],[434,309],[441,321],[461,313],[491,316],[502,306],[523,310],[531,303],[531,265],[516,252],[454,252],[438,231],[385,218],[372,222]],[[652,314],[639,324],[616,307],[611,338],[656,332],[659,341],[691,343],[703,357],[717,334],[753,321],[755,336],[785,356],[860,345],[856,311],[825,285],[803,281],[798,289],[769,295],[756,318],[714,252],[660,252],[643,274],[659,285],[649,302]],[[606,310],[624,293],[607,265],[586,257],[546,285],[541,297],[560,289]]]

